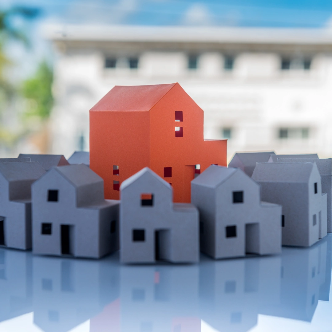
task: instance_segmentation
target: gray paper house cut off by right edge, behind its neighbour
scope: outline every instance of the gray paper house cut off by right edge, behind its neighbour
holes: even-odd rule
[[[327,193],[327,232],[332,233],[332,159],[284,159],[278,158],[278,163],[315,162],[322,181],[322,192]]]

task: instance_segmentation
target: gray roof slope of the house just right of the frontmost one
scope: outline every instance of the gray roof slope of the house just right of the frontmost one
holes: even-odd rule
[[[224,182],[237,171],[239,171],[238,168],[211,165],[197,178],[192,180],[191,183],[204,187],[216,188],[220,183]]]

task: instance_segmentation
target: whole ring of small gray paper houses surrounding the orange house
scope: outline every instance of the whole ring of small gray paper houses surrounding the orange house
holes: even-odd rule
[[[191,184],[191,204],[173,203],[146,167],[121,183],[121,201],[105,200],[88,152],[0,159],[0,246],[86,258],[121,247],[123,263],[195,263],[200,251],[278,254],[332,232],[332,159],[236,153]]]

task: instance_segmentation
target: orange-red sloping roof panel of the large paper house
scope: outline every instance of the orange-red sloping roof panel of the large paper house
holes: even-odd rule
[[[176,84],[116,85],[90,111],[149,111]]]

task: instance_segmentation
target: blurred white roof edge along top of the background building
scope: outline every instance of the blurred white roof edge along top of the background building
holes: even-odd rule
[[[97,24],[45,24],[42,33],[53,41],[227,42],[332,44],[328,28],[243,28],[134,26]]]

